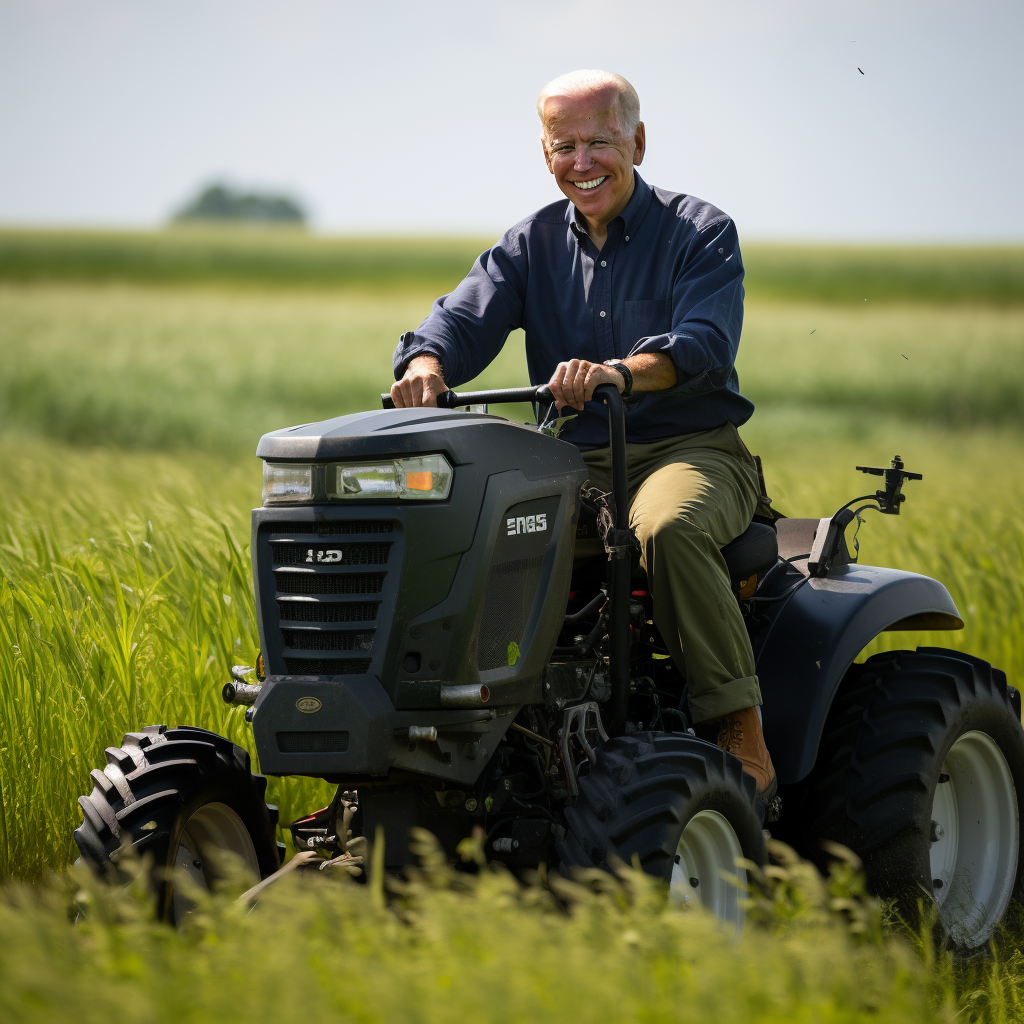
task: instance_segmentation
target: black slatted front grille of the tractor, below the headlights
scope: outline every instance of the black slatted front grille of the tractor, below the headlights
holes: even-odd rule
[[[271,566],[274,591],[264,604],[264,627],[268,641],[279,641],[268,642],[278,648],[271,665],[284,663],[274,671],[336,676],[371,670],[383,646],[376,643],[381,600],[398,585],[399,528],[386,519],[348,519],[273,522],[260,529],[259,557]],[[380,570],[366,571],[371,565]],[[370,595],[381,600],[367,600]],[[339,628],[344,623],[357,626]]]

